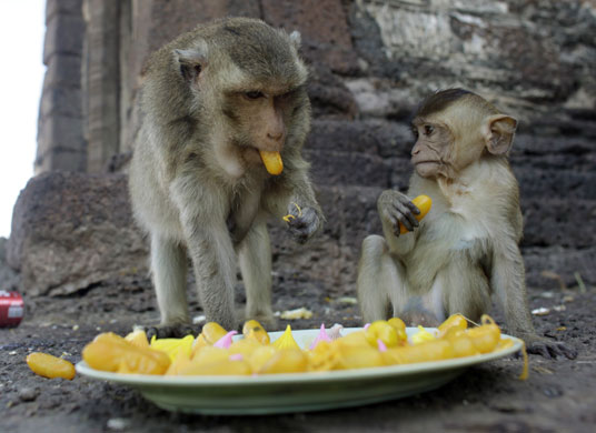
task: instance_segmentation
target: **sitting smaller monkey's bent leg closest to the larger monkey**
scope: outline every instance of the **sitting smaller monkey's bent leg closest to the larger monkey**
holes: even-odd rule
[[[358,264],[358,300],[364,322],[388,319],[405,304],[404,270],[389,254],[383,236],[372,234],[362,242]]]

